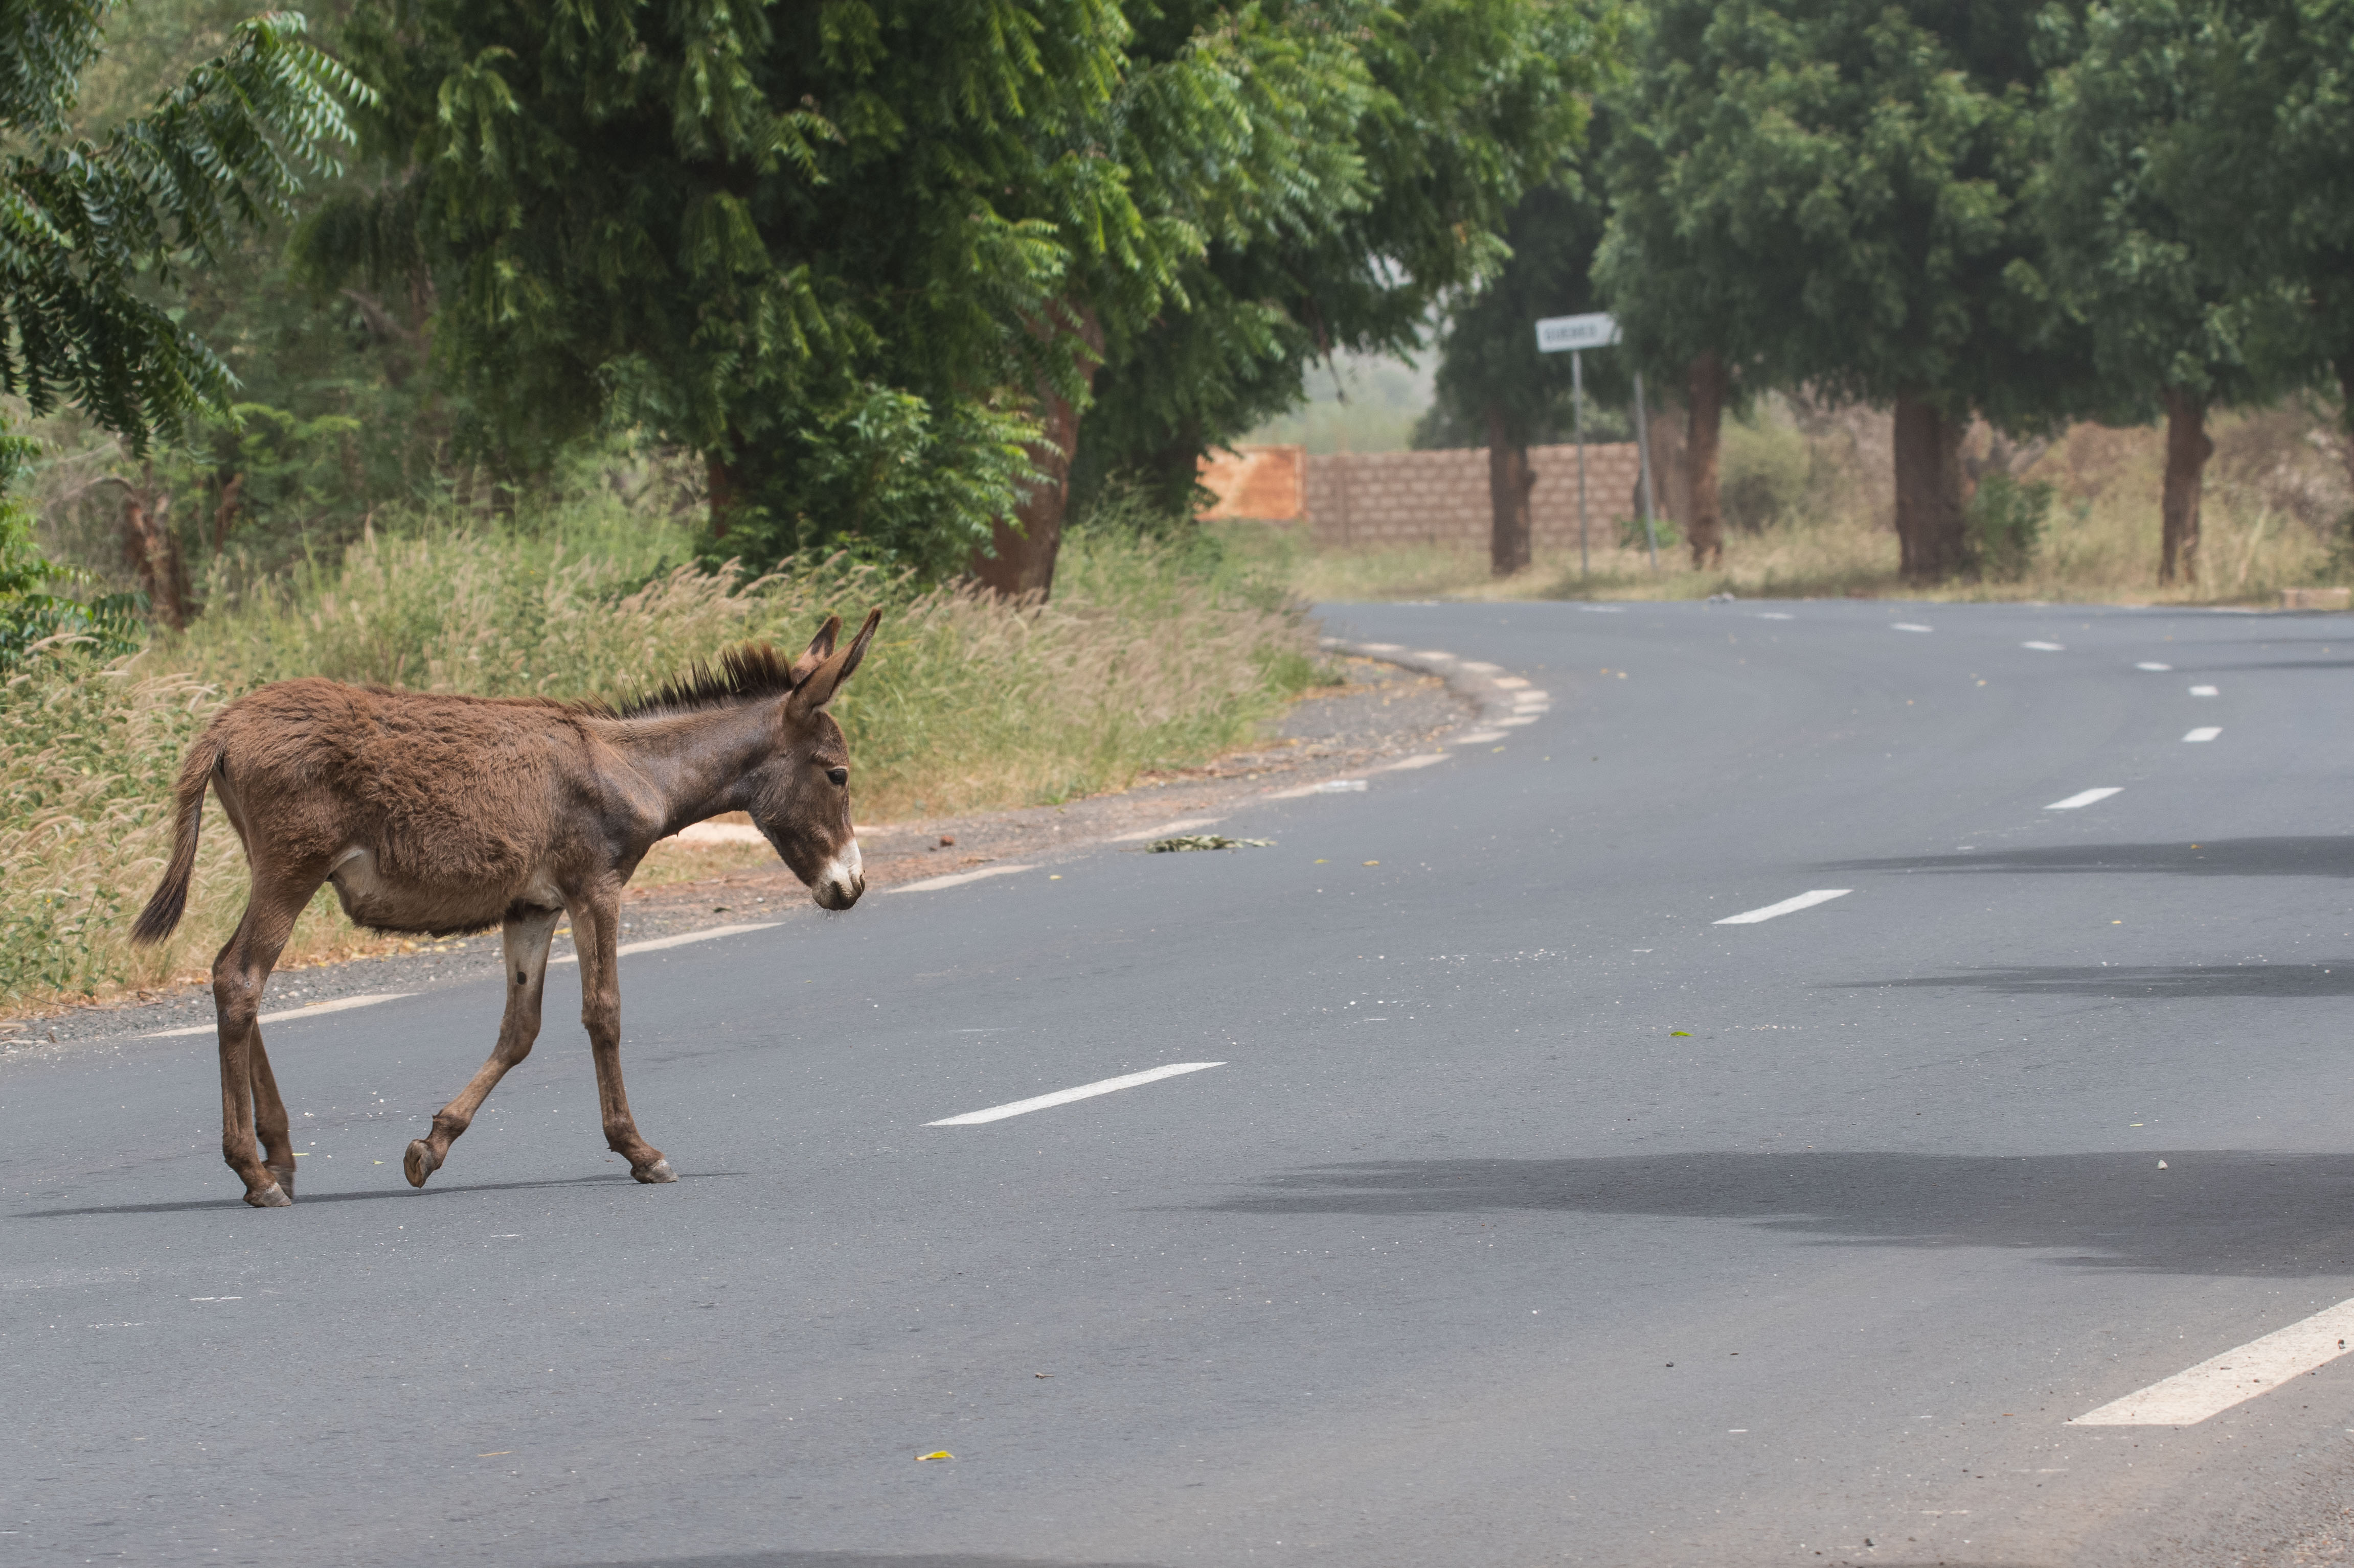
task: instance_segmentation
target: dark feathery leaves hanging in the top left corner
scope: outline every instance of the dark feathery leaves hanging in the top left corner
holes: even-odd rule
[[[0,388],[35,414],[82,407],[144,449],[224,407],[231,378],[141,280],[287,212],[365,89],[301,40],[301,16],[273,12],[89,141],[68,113],[104,16],[104,0],[33,0],[0,21],[0,127],[16,141],[0,158]]]

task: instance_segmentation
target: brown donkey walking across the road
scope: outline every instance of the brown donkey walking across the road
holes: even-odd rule
[[[866,891],[850,827],[850,752],[826,703],[866,658],[883,611],[833,651],[840,618],[786,663],[732,649],[713,672],[619,712],[600,703],[476,698],[292,679],[212,719],[172,790],[172,863],[132,940],[179,924],[195,872],[205,790],[245,844],[245,919],[212,961],[221,1030],[221,1159],[254,1208],[294,1201],[294,1145],[271,1058],[261,987],[320,882],[374,931],[464,936],[499,926],[506,1016],[473,1081],[400,1161],[424,1187],[483,1100],[532,1053],[556,922],[572,917],[581,1025],[596,1056],[605,1145],[640,1182],[676,1182],[638,1135],[621,1091],[621,886],[645,851],[687,823],[749,811],[826,910]],[[254,1140],[259,1131],[261,1150]]]

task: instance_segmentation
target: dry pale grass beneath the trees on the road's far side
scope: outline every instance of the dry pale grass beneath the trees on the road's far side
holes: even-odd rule
[[[1575,550],[1544,550],[1528,571],[1495,581],[1485,545],[1314,550],[1292,531],[1226,524],[1238,550],[1266,562],[1306,599],[1700,599],[1923,597],[2081,599],[2133,604],[2276,604],[2281,588],[2347,581],[2347,512],[2354,491],[2333,423],[2281,407],[2215,421],[2208,465],[2201,574],[2159,585],[2161,430],[2076,425],[2034,461],[2024,482],[2055,498],[2043,538],[2013,581],[1909,585],[1897,576],[1890,522],[1886,418],[1768,407],[1725,442],[1728,512],[1740,484],[1754,527],[1725,531],[1725,564],[1693,571],[1662,548],[1660,571],[1622,543],[1617,524],[1594,527],[1591,571]],[[1980,456],[1987,437],[1980,435]]]

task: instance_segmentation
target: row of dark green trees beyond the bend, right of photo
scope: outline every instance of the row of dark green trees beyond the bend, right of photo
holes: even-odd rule
[[[2354,418],[2354,5],[1655,0],[1594,136],[1511,219],[1438,374],[1509,449],[1558,428],[1537,315],[1608,308],[1685,418],[1695,567],[1721,418],[1768,390],[1893,411],[1902,574],[1973,574],[1961,442],[2166,421],[2159,581],[2196,581],[2210,411],[2316,388]],[[1507,538],[1518,529],[1518,538]]]

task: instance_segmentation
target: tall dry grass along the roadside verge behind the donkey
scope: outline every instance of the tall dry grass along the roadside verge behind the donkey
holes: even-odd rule
[[[160,872],[188,741],[233,693],[290,675],[619,698],[734,642],[798,644],[826,614],[883,604],[836,703],[862,820],[1069,799],[1201,762],[1316,677],[1314,630],[1281,595],[1125,536],[1066,543],[1055,602],[1022,609],[843,559],[734,585],[652,571],[645,555],[374,536],[294,583],[214,583],[212,614],[137,658],[31,661],[0,693],[0,1001],[151,985],[210,961],[245,905],[217,806],[181,931],[153,952],[122,931]],[[287,961],[363,943],[320,896]]]

